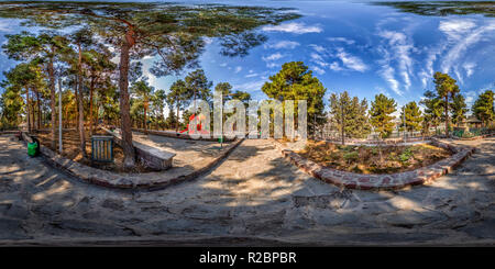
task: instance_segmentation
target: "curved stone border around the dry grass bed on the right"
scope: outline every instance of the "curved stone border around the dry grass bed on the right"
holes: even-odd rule
[[[453,145],[432,138],[431,144],[449,149],[453,153],[449,158],[435,162],[433,165],[421,167],[413,171],[387,173],[387,175],[362,175],[323,167],[312,160],[306,159],[295,152],[284,148],[283,145],[273,141],[282,155],[292,164],[306,173],[322,181],[359,190],[396,190],[407,186],[424,184],[451,172],[473,152],[474,147]]]

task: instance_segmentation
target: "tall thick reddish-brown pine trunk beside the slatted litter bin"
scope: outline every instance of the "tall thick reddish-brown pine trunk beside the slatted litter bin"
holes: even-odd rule
[[[135,166],[135,153],[132,144],[132,126],[131,113],[129,102],[129,54],[131,47],[134,45],[134,32],[129,30],[125,33],[122,47],[120,49],[120,65],[119,65],[119,89],[120,89],[120,125],[122,135],[122,149],[124,153],[124,168],[133,168]]]

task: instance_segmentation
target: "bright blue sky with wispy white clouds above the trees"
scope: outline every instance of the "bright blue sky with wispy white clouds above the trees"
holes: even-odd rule
[[[366,1],[195,2],[289,7],[302,15],[257,29],[268,40],[245,57],[221,56],[218,40],[207,41],[200,57],[207,77],[215,85],[230,82],[256,100],[266,99],[261,87],[270,76],[294,60],[304,61],[323,83],[327,104],[330,93],[346,90],[369,101],[384,93],[400,108],[433,89],[435,71],[452,76],[469,105],[480,92],[495,90],[495,18],[421,16]],[[0,42],[21,30],[18,21],[0,20]],[[143,59],[144,74],[152,86],[168,90],[179,77],[154,77],[147,70],[154,60]],[[0,54],[0,70],[14,65]]]

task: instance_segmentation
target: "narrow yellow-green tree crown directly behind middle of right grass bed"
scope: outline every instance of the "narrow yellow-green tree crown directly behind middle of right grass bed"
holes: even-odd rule
[[[394,123],[392,122],[394,116],[391,114],[395,112],[395,108],[394,99],[387,98],[382,93],[375,96],[375,100],[372,101],[370,109],[371,124],[382,138],[388,137],[394,130]]]

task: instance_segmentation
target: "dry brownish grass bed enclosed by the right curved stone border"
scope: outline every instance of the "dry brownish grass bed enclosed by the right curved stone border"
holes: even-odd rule
[[[298,154],[326,167],[358,173],[394,173],[429,166],[451,155],[428,144],[413,146],[342,146],[308,141]]]

